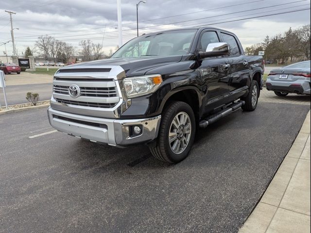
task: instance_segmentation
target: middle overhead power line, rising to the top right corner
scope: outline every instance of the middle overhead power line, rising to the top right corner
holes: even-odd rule
[[[287,2],[287,3],[272,5],[272,6],[259,7],[259,8],[256,8],[256,9],[249,9],[249,10],[244,10],[244,11],[232,12],[232,13],[222,14],[222,15],[218,15],[218,16],[202,17],[202,18],[195,18],[195,19],[184,20],[184,21],[178,21],[178,22],[172,22],[172,23],[166,23],[166,24],[158,24],[158,25],[153,25],[153,26],[141,27],[140,29],[153,28],[153,27],[159,27],[159,26],[171,25],[171,24],[177,24],[177,23],[184,23],[184,22],[190,22],[190,21],[201,20],[201,19],[206,19],[206,18],[213,18],[213,17],[220,17],[220,16],[233,15],[233,14],[237,14],[237,13],[243,13],[243,12],[261,10],[261,9],[267,9],[267,8],[271,8],[271,7],[276,7],[276,6],[281,6],[281,5],[288,5],[288,4],[297,3],[297,2],[302,2],[302,1],[306,1],[306,0],[299,0],[299,1],[293,1],[293,2]],[[125,32],[125,31],[132,31],[132,30],[136,30],[136,29],[125,29],[125,30],[122,30],[122,31]],[[118,32],[118,31],[106,32],[106,34],[107,34],[107,33],[115,33],[115,32]],[[56,37],[54,37],[54,38],[77,37],[77,36],[97,35],[97,34],[102,34],[102,33],[88,33],[88,34],[80,34],[80,35],[56,36]],[[26,37],[26,36],[25,36],[25,37]],[[27,39],[27,38],[25,38],[25,37],[21,37],[21,36],[20,36],[20,37],[18,37],[18,38]],[[31,39],[31,38],[30,38],[30,39]]]

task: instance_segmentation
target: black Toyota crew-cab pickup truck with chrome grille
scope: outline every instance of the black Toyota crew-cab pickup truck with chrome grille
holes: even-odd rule
[[[60,68],[49,121],[55,129],[111,146],[147,144],[155,158],[185,159],[198,127],[242,107],[256,109],[261,56],[237,36],[200,27],[143,34],[110,59]]]

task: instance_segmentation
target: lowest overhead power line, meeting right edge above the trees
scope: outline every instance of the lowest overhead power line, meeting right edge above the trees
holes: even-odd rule
[[[253,19],[253,18],[260,18],[260,17],[269,17],[269,16],[276,16],[276,15],[282,15],[282,14],[288,14],[288,13],[293,13],[293,12],[299,12],[299,11],[305,11],[305,10],[310,10],[309,8],[303,8],[303,9],[297,9],[297,10],[292,10],[292,11],[286,11],[286,12],[280,12],[280,13],[275,13],[275,14],[268,14],[268,15],[262,15],[262,16],[256,16],[256,17],[246,17],[246,18],[241,18],[241,19],[236,19],[236,20],[229,20],[229,21],[223,21],[223,22],[218,22],[218,23],[209,23],[209,24],[196,24],[196,26],[210,26],[210,25],[216,25],[216,24],[223,24],[223,23],[228,23],[228,22],[236,22],[236,21],[241,21],[241,20],[246,20],[246,19]],[[258,13],[259,14],[259,13]],[[243,16],[240,16],[243,17]],[[216,20],[219,21],[219,20]],[[183,28],[183,27],[189,27],[190,25],[187,26],[177,26],[171,29],[177,29],[177,28]],[[161,30],[163,31],[163,30]],[[153,31],[155,33],[155,31]],[[150,33],[153,33],[150,32]],[[135,36],[136,33],[132,33],[132,34],[126,34],[123,37],[129,37],[129,36]],[[106,37],[105,39],[114,39],[114,38],[118,38],[118,36],[110,36],[110,37]],[[92,40],[101,40],[102,38],[89,38]],[[82,39],[84,40],[84,39]],[[82,41],[82,40],[62,40],[62,41]],[[19,42],[35,42],[35,41],[19,41]]]

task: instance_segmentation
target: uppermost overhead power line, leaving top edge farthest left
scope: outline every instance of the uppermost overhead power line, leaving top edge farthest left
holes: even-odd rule
[[[196,11],[196,12],[190,12],[190,13],[185,13],[185,14],[180,14],[180,15],[175,15],[175,16],[160,17],[160,18],[155,18],[155,19],[143,20],[143,21],[140,21],[140,22],[147,22],[147,21],[154,21],[154,20],[163,19],[163,18],[170,18],[170,17],[177,17],[177,16],[190,15],[190,14],[195,14],[195,13],[200,13],[200,12],[205,12],[205,11],[212,11],[212,10],[218,10],[218,9],[223,9],[223,8],[227,8],[227,7],[233,7],[233,6],[239,6],[239,5],[244,5],[244,4],[250,4],[250,3],[259,2],[259,1],[264,1],[264,0],[256,0],[256,1],[251,1],[251,2],[244,2],[244,3],[240,3],[240,4],[234,4],[234,5],[228,5],[228,6],[223,6],[223,7],[217,7],[217,8],[212,8],[212,9],[207,9],[207,10],[202,10],[202,11]],[[102,5],[102,4],[101,4],[101,5]],[[122,24],[122,26],[124,26],[124,25],[130,25],[130,24],[135,24],[135,23],[136,23],[136,22],[133,22],[133,23],[125,23],[125,24]],[[107,26],[107,27],[116,27],[116,26],[118,26],[118,25],[111,25],[111,26]],[[63,33],[75,33],[75,32],[83,32],[83,31],[96,30],[96,29],[103,29],[103,27],[91,28],[91,29],[84,29],[84,30],[77,30],[77,31],[68,31],[68,32],[62,32],[62,33],[40,34],[40,35],[55,35],[55,34],[63,34]],[[40,35],[23,36],[23,38],[24,38],[24,37],[36,37],[36,36],[40,36]],[[21,37],[18,37],[18,38],[21,38]]]

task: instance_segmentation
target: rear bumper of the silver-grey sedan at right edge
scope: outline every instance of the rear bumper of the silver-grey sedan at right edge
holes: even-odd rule
[[[306,82],[304,80],[296,80],[294,82],[282,82],[267,79],[266,81],[266,88],[268,91],[280,91],[310,95],[310,87],[310,82]]]

